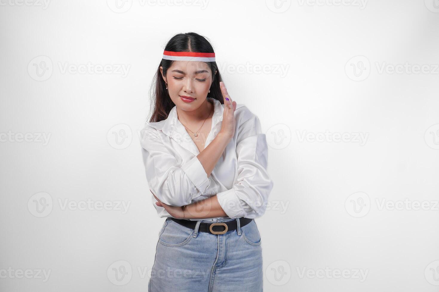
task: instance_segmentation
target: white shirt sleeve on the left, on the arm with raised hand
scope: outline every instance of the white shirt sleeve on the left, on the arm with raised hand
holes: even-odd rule
[[[155,129],[143,129],[140,137],[146,179],[160,201],[171,206],[184,206],[206,192],[210,179],[197,156],[179,165]]]

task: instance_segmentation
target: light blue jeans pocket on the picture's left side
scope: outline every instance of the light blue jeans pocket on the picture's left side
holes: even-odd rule
[[[165,246],[183,246],[191,241],[193,235],[194,229],[184,227],[168,218],[158,242]]]

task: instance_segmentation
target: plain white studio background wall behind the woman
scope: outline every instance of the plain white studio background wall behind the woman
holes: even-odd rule
[[[197,32],[270,145],[264,291],[438,291],[435,1],[0,0],[0,290],[146,291],[163,218],[137,133],[166,42]]]

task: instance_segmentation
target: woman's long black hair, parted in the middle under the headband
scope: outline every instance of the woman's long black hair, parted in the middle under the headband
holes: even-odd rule
[[[165,47],[166,51],[172,52],[195,52],[195,53],[215,53],[210,42],[202,35],[195,32],[180,33],[174,35]],[[165,120],[171,109],[175,106],[168,91],[166,90],[165,81],[162,78],[160,67],[163,67],[163,75],[166,76],[166,72],[173,64],[173,60],[162,59],[158,65],[157,72],[155,73],[153,83],[151,84],[151,118],[150,123],[159,122]],[[224,104],[221,88],[219,88],[219,82],[222,81],[221,74],[219,73],[216,62],[205,62],[212,70],[212,84],[210,86],[210,93],[208,97],[219,100],[221,104]],[[216,71],[216,74],[215,74]],[[151,93],[150,91],[150,93]]]

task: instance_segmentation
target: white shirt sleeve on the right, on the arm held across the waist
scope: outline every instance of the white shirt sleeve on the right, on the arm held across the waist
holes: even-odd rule
[[[258,218],[266,211],[273,181],[267,172],[268,147],[255,115],[241,124],[237,135],[237,183],[216,194],[221,208],[230,218]]]

